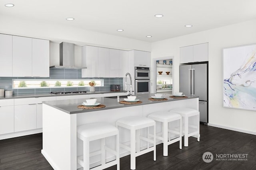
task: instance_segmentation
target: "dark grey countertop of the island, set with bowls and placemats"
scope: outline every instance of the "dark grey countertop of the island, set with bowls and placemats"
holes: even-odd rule
[[[43,102],[43,104],[54,107],[56,109],[66,112],[68,114],[75,114],[75,113],[84,113],[84,112],[90,112],[90,111],[116,109],[116,108],[121,108],[121,107],[139,106],[139,105],[154,104],[154,103],[160,103],[160,102],[172,102],[172,101],[177,101],[177,100],[187,100],[187,99],[192,99],[192,98],[198,98],[198,96],[188,96],[188,98],[176,98],[175,99],[175,98],[170,98],[169,97],[170,95],[169,95],[169,96],[166,96],[166,98],[168,100],[165,100],[165,101],[148,100],[148,98],[151,98],[151,96],[154,96],[154,94],[138,95],[137,99],[139,99],[142,102],[141,104],[120,104],[118,102],[118,100],[114,99],[114,98],[108,98],[108,97],[95,98],[95,99],[97,99],[98,103],[106,106],[106,107],[99,108],[99,109],[79,109],[79,108],[77,108],[78,105],[81,105],[83,102],[86,102],[85,99],[46,101],[46,102]],[[123,98],[119,99],[119,101],[122,101],[122,100],[124,100],[124,99]]]

